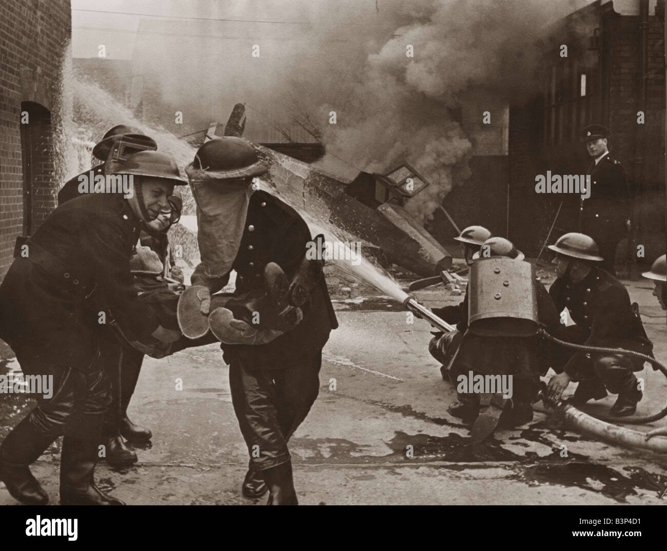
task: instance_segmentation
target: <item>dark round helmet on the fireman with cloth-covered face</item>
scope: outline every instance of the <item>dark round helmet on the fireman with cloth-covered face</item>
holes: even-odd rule
[[[249,141],[232,136],[211,139],[199,147],[191,167],[215,172],[220,178],[247,178],[268,170]]]

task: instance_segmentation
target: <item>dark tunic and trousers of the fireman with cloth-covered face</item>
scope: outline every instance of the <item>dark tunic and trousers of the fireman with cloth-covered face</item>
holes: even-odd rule
[[[263,290],[269,262],[277,263],[291,279],[310,240],[296,211],[269,193],[255,191],[232,266],[237,272],[235,295]],[[201,264],[191,278],[193,285],[205,285],[211,292],[227,280],[228,276],[207,278]],[[321,349],[331,329],[338,327],[323,275],[302,310],[301,323],[268,344],[221,345],[229,364],[234,410],[256,470],[289,460],[287,440],[317,398]]]

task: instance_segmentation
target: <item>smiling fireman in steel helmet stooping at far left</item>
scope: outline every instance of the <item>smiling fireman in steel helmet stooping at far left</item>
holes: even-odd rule
[[[129,257],[139,222],[155,218],[184,181],[175,162],[156,151],[136,153],[119,172],[134,175],[132,197],[89,193],[60,205],[34,235],[17,239],[0,285],[0,338],[25,374],[53,378],[53,395],[37,396],[0,446],[0,480],[25,504],[48,501],[29,465],[61,435],[61,504],[123,504],[93,478],[109,404],[99,351],[106,312],[137,338],[172,342],[180,335],[137,300]]]

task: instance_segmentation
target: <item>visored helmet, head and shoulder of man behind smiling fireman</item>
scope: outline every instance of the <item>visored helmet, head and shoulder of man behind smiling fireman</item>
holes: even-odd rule
[[[61,205],[81,195],[79,191],[81,175],[88,176],[91,172],[95,176],[114,174],[130,155],[139,153],[139,151],[155,151],[156,149],[155,140],[143,135],[139,129],[125,124],[115,125],[93,147],[93,157],[102,163],[67,180],[58,191],[58,204]]]

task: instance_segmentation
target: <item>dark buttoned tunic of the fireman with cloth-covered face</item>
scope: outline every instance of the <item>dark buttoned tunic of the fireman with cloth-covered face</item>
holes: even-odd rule
[[[243,236],[232,265],[237,273],[234,295],[263,291],[264,268],[269,262],[277,263],[288,279],[293,278],[311,239],[307,224],[294,209],[270,193],[255,191],[249,199]],[[211,293],[223,288],[228,280],[229,274],[221,278],[205,276],[203,264],[191,277],[193,285],[206,286]],[[250,370],[279,370],[318,354],[329,332],[338,327],[323,276],[309,303],[301,308],[303,320],[268,344],[221,344],[225,362],[239,360]]]

